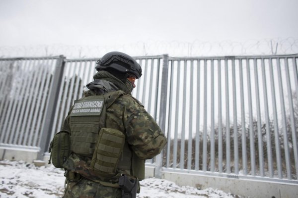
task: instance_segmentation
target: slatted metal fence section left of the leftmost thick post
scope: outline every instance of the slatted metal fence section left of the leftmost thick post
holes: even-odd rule
[[[59,57],[0,59],[0,144],[38,149]]]

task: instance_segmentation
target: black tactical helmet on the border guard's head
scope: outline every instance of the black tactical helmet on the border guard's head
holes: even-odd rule
[[[121,73],[133,74],[136,78],[142,76],[142,68],[137,61],[126,53],[119,51],[112,51],[104,56],[100,60],[97,60],[95,69],[101,70],[114,70]]]

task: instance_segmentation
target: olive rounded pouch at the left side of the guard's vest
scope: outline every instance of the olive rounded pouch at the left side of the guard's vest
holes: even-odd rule
[[[55,134],[49,148],[50,160],[56,168],[63,168],[63,163],[70,156],[71,152],[71,137],[70,132],[62,130]]]

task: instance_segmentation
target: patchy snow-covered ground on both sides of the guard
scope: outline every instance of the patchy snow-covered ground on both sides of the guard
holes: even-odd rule
[[[58,198],[64,191],[64,171],[54,166],[36,167],[23,161],[0,161],[0,198]],[[140,182],[138,198],[239,198],[214,189],[149,178]]]

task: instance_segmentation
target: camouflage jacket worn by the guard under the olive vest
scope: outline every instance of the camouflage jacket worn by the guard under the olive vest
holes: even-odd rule
[[[144,106],[131,96],[133,86],[128,80],[122,82],[110,73],[100,71],[94,75],[94,81],[89,83],[87,88],[89,91],[84,93],[84,97],[103,95],[117,90],[126,93],[107,108],[106,127],[123,132],[126,137],[126,146],[131,150],[130,170],[119,170],[119,174],[124,172],[140,180],[144,179],[145,159],[152,158],[161,152],[167,142],[164,134]],[[65,119],[63,130],[71,131],[70,116]],[[117,183],[119,174],[113,178],[100,178],[89,167],[90,160],[89,157],[81,157],[73,153],[64,167],[72,172],[84,173],[84,177],[106,186],[113,186],[109,185],[111,182]]]

